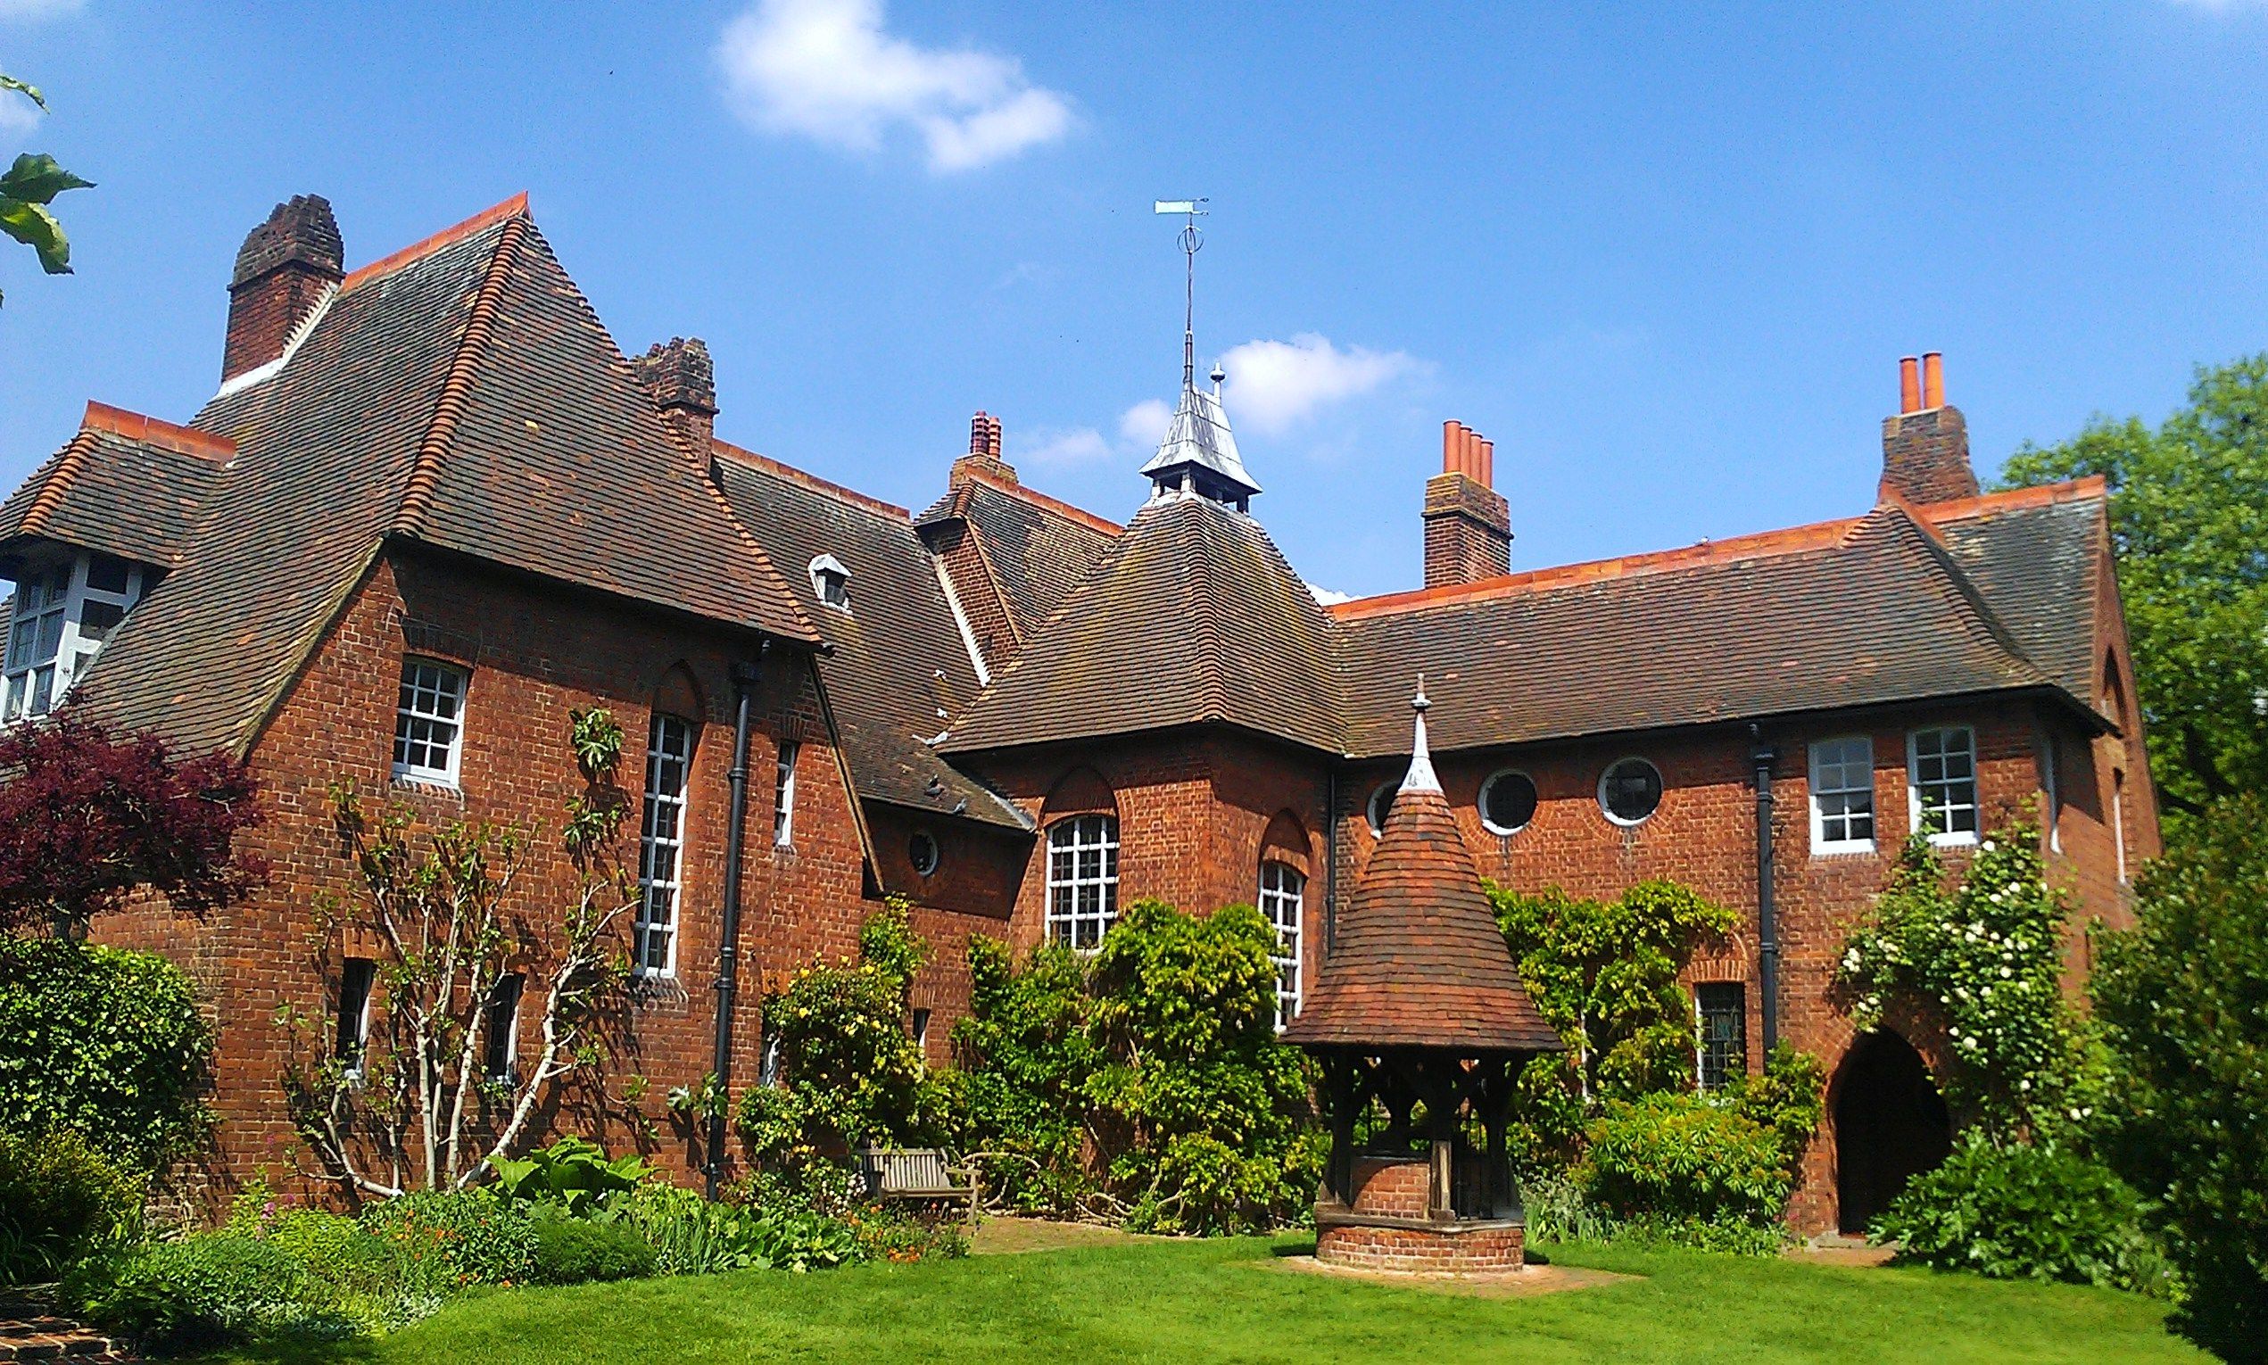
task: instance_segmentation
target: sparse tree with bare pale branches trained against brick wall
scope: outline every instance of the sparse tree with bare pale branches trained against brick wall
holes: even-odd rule
[[[347,896],[318,905],[322,939],[354,927],[379,943],[383,1014],[361,1057],[338,1057],[324,1029],[288,1004],[277,1016],[315,1048],[284,1077],[299,1131],[329,1175],[361,1193],[474,1184],[519,1147],[565,1077],[601,1059],[596,1025],[628,977],[619,923],[640,889],[621,859],[621,726],[606,710],[578,710],[569,741],[583,775],[562,832],[576,891],[549,923],[513,909],[528,825],[451,821],[420,834],[408,807],[372,809],[352,785],[331,789],[356,878]],[[481,1045],[515,961],[526,966],[526,993],[513,1014],[533,995],[533,977],[544,982],[538,1050],[531,1066],[490,1072]]]

